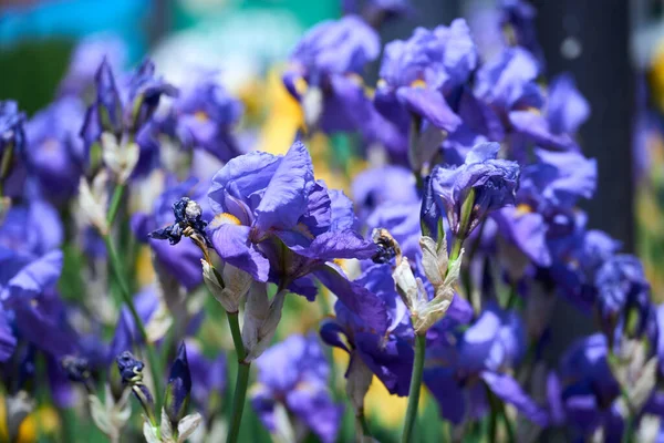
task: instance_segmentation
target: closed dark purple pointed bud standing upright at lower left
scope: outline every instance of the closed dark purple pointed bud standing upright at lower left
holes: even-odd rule
[[[181,342],[175,361],[170,365],[170,375],[166,385],[164,410],[173,427],[185,416],[191,393],[191,374],[187,361],[187,349]]]

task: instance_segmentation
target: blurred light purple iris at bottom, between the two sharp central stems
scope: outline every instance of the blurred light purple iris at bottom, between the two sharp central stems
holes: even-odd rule
[[[330,367],[315,336],[291,336],[269,348],[257,364],[251,404],[268,430],[278,431],[274,408],[281,403],[322,442],[336,440],[343,406],[332,400]]]

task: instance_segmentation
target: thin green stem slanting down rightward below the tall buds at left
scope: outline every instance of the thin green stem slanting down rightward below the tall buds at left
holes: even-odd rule
[[[111,264],[111,269],[115,275],[115,279],[117,281],[117,286],[120,287],[120,293],[122,296],[122,300],[129,309],[132,313],[132,318],[134,319],[134,323],[136,323],[136,329],[141,336],[141,339],[145,342],[145,349],[147,352],[147,360],[149,362],[149,370],[153,378],[153,383],[155,385],[155,403],[157,406],[157,411],[160,411],[162,408],[162,387],[159,380],[162,379],[162,365],[159,364],[159,360],[157,358],[157,353],[155,351],[155,347],[149,342],[147,332],[145,331],[145,326],[143,324],[143,320],[136,310],[136,306],[134,305],[134,299],[132,298],[132,293],[129,292],[129,288],[126,285],[126,281],[123,277],[122,265],[120,261],[120,257],[115,251],[115,246],[113,245],[113,240],[108,234],[102,236],[104,238],[104,244],[106,245],[106,253],[108,255],[108,261]]]

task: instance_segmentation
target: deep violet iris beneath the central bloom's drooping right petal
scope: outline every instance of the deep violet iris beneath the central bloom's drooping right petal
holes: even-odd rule
[[[355,280],[376,293],[386,306],[385,333],[376,333],[356,313],[336,302],[336,318],[321,326],[320,336],[329,346],[349,352],[351,359],[362,359],[391,393],[404,396],[408,394],[413,372],[414,332],[408,310],[394,289],[391,274],[390,266],[374,265]]]

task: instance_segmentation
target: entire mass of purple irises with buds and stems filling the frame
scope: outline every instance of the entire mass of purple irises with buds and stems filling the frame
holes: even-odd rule
[[[639,259],[585,226],[578,204],[595,190],[596,165],[574,133],[590,107],[568,75],[544,85],[531,7],[502,2],[496,27],[509,39],[486,61],[461,19],[387,43],[370,90],[361,75],[381,53],[376,17],[407,12],[370,3],[371,14],[320,23],[293,50],[283,84],[304,124],[286,155],[250,150],[236,127],[242,106],[212,75],[176,89],[149,61],[117,75],[108,54],[91,72],[96,43],[74,54],[45,110],[28,120],[0,104],[10,439],[46,387],[59,408],[84,404],[111,441],[136,432],[135,402],[151,443],[219,441],[220,420],[235,442],[257,365],[249,400],[264,426],[283,441],[333,442],[344,406],[322,343],[350,354],[357,441],[373,441],[374,378],[408,395],[404,442],[415,441],[423,385],[454,440],[480,422],[488,441],[660,435],[664,306]],[[307,146],[321,132],[359,134],[369,168],[353,200],[315,178]],[[155,269],[135,296],[127,231]],[[60,295],[65,256],[85,282],[77,303]],[[238,357],[228,418],[211,406],[225,357],[194,340],[200,287],[226,310]],[[273,343],[284,303],[323,287],[334,316]],[[551,361],[569,328],[551,322],[561,300],[598,332]]]

